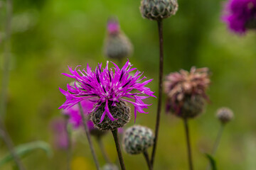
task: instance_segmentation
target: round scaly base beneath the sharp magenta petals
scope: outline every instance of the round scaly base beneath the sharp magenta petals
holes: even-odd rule
[[[109,102],[110,113],[116,120],[110,120],[106,115],[101,121],[102,114],[105,112],[105,105],[106,103],[102,103],[99,108],[92,113],[91,120],[96,128],[99,130],[115,130],[124,127],[124,125],[129,122],[131,118],[130,108],[124,101],[119,101],[119,103],[116,103],[116,106],[112,106],[112,102]]]

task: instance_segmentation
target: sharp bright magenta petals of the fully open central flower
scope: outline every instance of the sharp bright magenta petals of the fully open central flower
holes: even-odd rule
[[[112,64],[114,64],[114,62],[112,62]],[[75,79],[76,83],[74,86],[67,84],[67,91],[60,89],[61,93],[64,94],[67,99],[60,108],[70,108],[80,101],[89,99],[95,103],[95,107],[90,111],[93,112],[97,110],[102,103],[105,103],[105,111],[102,114],[101,121],[104,120],[106,114],[110,120],[116,120],[113,118],[112,113],[110,113],[108,103],[111,102],[112,106],[116,106],[116,103],[119,103],[119,101],[126,101],[134,105],[136,120],[137,111],[139,113],[145,113],[143,109],[149,106],[142,100],[149,96],[154,96],[154,92],[148,87],[145,87],[152,79],[142,82],[146,77],[142,77],[143,73],[138,70],[134,75],[130,74],[130,72],[136,70],[136,68],[132,68],[132,64],[129,63],[129,60],[124,64],[122,69],[119,69],[117,64],[114,64],[114,67],[109,69],[109,62],[107,62],[105,68],[102,67],[102,64],[98,64],[95,71],[92,71],[88,64],[86,70],[82,69],[81,71],[77,69],[77,67],[74,70],[69,67],[69,70],[71,74],[63,74]],[[141,96],[142,94],[146,94],[147,96]]]

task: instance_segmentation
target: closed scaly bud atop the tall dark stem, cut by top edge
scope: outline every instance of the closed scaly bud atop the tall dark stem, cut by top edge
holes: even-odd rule
[[[178,10],[176,0],[142,0],[140,11],[144,18],[161,20],[174,16]]]

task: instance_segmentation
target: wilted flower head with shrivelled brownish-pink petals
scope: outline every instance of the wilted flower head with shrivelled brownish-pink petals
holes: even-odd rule
[[[167,110],[180,117],[193,118],[203,111],[206,89],[210,84],[208,68],[190,72],[181,69],[166,77],[164,91],[167,94]]]

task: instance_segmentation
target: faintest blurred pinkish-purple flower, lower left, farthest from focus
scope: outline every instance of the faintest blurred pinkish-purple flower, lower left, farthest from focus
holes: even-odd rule
[[[68,149],[68,132],[66,130],[65,120],[58,118],[50,124],[53,131],[53,142],[58,149]]]

